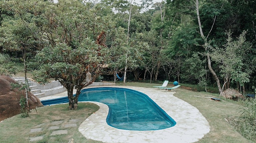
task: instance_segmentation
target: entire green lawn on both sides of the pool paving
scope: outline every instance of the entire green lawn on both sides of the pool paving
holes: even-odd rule
[[[123,86],[122,82],[116,85]],[[160,85],[161,84],[127,82],[125,86],[152,88],[153,86]],[[240,106],[237,102],[231,100],[226,101],[224,98],[221,102],[211,101],[209,97],[218,97],[218,95],[206,92],[193,92],[182,88],[177,88],[174,96],[198,108],[210,124],[210,132],[197,143],[251,143],[251,141],[241,136],[235,128],[225,121],[225,117],[239,115],[237,108]],[[67,104],[40,107],[37,108],[38,113],[32,110],[30,116],[27,118],[20,118],[20,116],[17,115],[4,120],[0,123],[0,142],[27,143],[30,137],[44,134],[43,140],[37,141],[37,143],[62,143],[68,142],[71,138],[74,139],[75,143],[101,143],[99,141],[86,139],[78,131],[79,124],[90,114],[98,110],[98,106],[88,103],[79,103],[78,110],[71,111],[68,110],[67,107]],[[66,135],[50,135],[52,130],[48,130],[48,128],[51,122],[63,120],[64,123],[66,123],[70,119],[78,119],[78,126],[68,128],[68,134]],[[40,126],[40,124],[43,123],[45,124],[42,126],[42,132],[30,133],[32,128]]]

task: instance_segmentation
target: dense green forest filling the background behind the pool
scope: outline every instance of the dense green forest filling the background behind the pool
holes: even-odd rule
[[[40,82],[90,71],[94,80],[118,73],[126,75],[124,84],[169,80],[218,87],[218,93],[230,87],[249,93],[255,86],[255,0],[0,4],[1,72],[15,73],[20,62]]]

